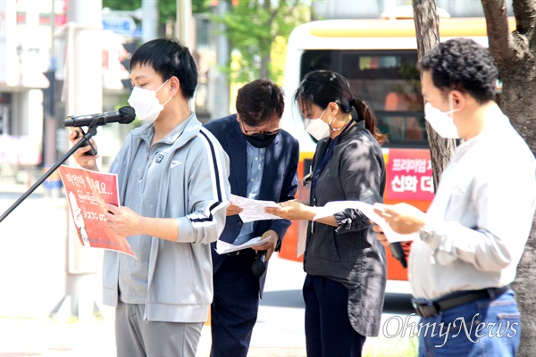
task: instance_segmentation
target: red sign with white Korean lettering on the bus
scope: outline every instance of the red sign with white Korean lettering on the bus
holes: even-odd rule
[[[389,199],[431,201],[434,190],[430,151],[389,148],[387,179]]]

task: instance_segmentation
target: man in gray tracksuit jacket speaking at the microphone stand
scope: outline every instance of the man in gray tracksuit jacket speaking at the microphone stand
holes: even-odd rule
[[[110,167],[121,206],[107,205],[105,217],[136,258],[105,252],[104,303],[116,307],[118,356],[195,356],[213,299],[210,243],[230,201],[229,157],[189,110],[197,68],[188,48],[147,42],[130,79],[129,104],[147,124],[130,131]],[[97,170],[88,147],[73,156]]]

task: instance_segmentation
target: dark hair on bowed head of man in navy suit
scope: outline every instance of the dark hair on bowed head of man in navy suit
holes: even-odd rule
[[[250,127],[280,120],[285,110],[283,89],[271,80],[256,79],[239,89],[236,108],[240,120]]]

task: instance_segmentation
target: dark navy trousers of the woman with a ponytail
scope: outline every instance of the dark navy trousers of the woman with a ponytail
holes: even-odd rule
[[[365,336],[359,335],[348,319],[348,289],[330,278],[307,274],[307,357],[361,356]]]

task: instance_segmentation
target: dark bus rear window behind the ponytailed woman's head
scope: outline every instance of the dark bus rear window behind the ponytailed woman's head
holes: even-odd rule
[[[314,70],[338,71],[369,104],[385,147],[427,147],[421,82],[415,50],[306,50],[300,79]]]

